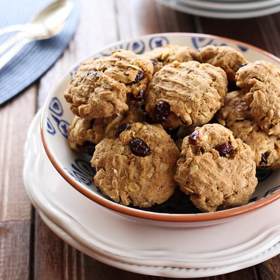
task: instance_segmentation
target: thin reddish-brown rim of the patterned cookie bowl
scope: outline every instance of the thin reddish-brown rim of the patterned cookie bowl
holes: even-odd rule
[[[98,53],[104,49],[116,46],[118,44],[122,44],[125,42],[129,42],[132,40],[141,40],[141,39],[147,39],[150,37],[156,37],[156,36],[165,36],[165,37],[177,37],[177,36],[182,36],[182,37],[203,37],[203,38],[209,38],[209,39],[217,39],[217,40],[224,40],[230,43],[235,43],[241,46],[244,46],[249,49],[253,49],[255,51],[258,51],[262,54],[267,55],[269,58],[275,60],[276,62],[280,63],[280,59],[275,57],[275,55],[262,50],[258,47],[255,47],[253,45],[243,43],[241,41],[237,41],[234,39],[229,39],[226,37],[220,37],[220,36],[214,36],[214,35],[209,35],[209,34],[200,34],[200,33],[184,33],[184,32],[175,32],[175,33],[156,33],[156,34],[148,34],[148,35],[143,35],[143,36],[138,36],[126,40],[121,40],[117,41],[115,43],[106,45],[98,50],[96,50],[94,53]],[[87,55],[84,59],[80,60],[80,62],[85,61],[89,58],[90,55]],[[69,69],[72,70],[78,63],[75,63],[72,65]],[[69,72],[68,71],[68,72]],[[67,72],[67,73],[68,73]],[[46,100],[43,105],[42,109],[42,115],[41,115],[41,120],[40,120],[40,130],[41,130],[41,138],[42,138],[42,143],[44,146],[44,149],[46,151],[46,154],[48,158],[50,159],[51,163],[55,167],[55,169],[60,173],[60,175],[72,186],[74,187],[77,191],[85,195],[87,198],[90,200],[98,203],[99,205],[108,208],[110,210],[119,212],[121,214],[129,215],[132,217],[137,217],[137,218],[144,218],[144,219],[149,219],[149,220],[156,220],[156,221],[167,221],[167,222],[198,222],[198,221],[209,221],[209,220],[215,220],[215,219],[224,219],[224,218],[229,218],[232,216],[240,215],[243,213],[247,213],[256,209],[259,209],[261,207],[266,206],[269,203],[272,203],[273,201],[277,200],[280,198],[280,190],[275,191],[274,193],[271,193],[265,198],[262,198],[256,202],[249,203],[247,205],[227,209],[227,210],[221,210],[217,212],[210,212],[210,213],[196,213],[196,214],[169,214],[169,213],[157,213],[157,212],[150,212],[150,211],[145,211],[141,209],[135,209],[131,207],[127,207],[121,204],[118,204],[116,202],[110,201],[106,198],[101,197],[99,194],[96,194],[83,186],[82,184],[79,184],[75,179],[73,179],[67,172],[64,171],[64,169],[61,167],[62,164],[60,164],[60,160],[55,159],[55,156],[51,153],[50,149],[48,148],[46,138],[44,135],[44,116],[47,111],[47,105],[49,98],[52,96],[52,93],[55,91],[55,89],[58,88],[60,82],[63,80],[63,78],[66,76],[62,76],[56,83],[55,85],[51,88],[49,94],[46,97]]]

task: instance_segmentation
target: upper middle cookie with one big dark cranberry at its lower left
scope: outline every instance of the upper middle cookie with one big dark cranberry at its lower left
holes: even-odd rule
[[[174,129],[209,122],[227,93],[225,71],[197,61],[165,65],[152,78],[144,100],[156,123]]]

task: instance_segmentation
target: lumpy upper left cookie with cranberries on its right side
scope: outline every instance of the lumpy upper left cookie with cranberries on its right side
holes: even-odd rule
[[[81,65],[64,96],[72,112],[83,119],[107,118],[128,110],[127,95],[143,96],[153,65],[128,50],[115,50]]]

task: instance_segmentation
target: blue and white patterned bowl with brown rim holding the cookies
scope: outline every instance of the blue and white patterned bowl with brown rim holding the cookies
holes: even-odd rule
[[[117,204],[104,197],[92,183],[94,170],[90,165],[90,157],[82,153],[73,152],[69,148],[67,142],[67,126],[71,123],[73,115],[69,109],[69,104],[63,97],[63,93],[68,86],[71,76],[83,62],[99,58],[102,55],[109,55],[111,50],[124,48],[141,54],[167,43],[189,46],[194,49],[199,49],[209,44],[217,46],[228,45],[242,52],[248,61],[254,62],[256,60],[266,60],[274,64],[280,64],[280,60],[278,58],[256,47],[231,39],[201,34],[154,34],[139,37],[137,39],[117,42],[113,45],[104,47],[102,50],[95,52],[87,59],[73,66],[71,70],[60,79],[57,85],[54,86],[45,101],[41,118],[41,134],[46,153],[54,167],[70,185],[85,194],[89,199],[108,209],[121,214],[126,214],[131,218],[140,217],[171,222],[217,220],[255,210],[279,198],[279,171],[263,171],[262,174],[259,175],[262,178],[260,178],[261,180],[259,185],[247,205],[214,213],[195,213],[192,212],[192,208],[189,209],[189,212],[186,210],[186,212],[179,211],[172,213],[170,212],[170,208],[168,206],[163,208],[163,210],[161,208],[160,211],[158,211],[158,208],[152,208],[149,209],[149,211],[135,209]],[[167,213],[162,213],[164,212],[164,209],[167,209]]]

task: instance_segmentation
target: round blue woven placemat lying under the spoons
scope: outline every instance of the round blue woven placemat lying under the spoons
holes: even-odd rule
[[[0,70],[0,104],[3,104],[37,80],[60,57],[76,30],[79,0],[71,0],[73,11],[64,30],[57,36],[26,45]],[[41,9],[54,0],[0,0],[0,29],[12,24],[30,21]],[[0,36],[0,44],[9,36]]]

